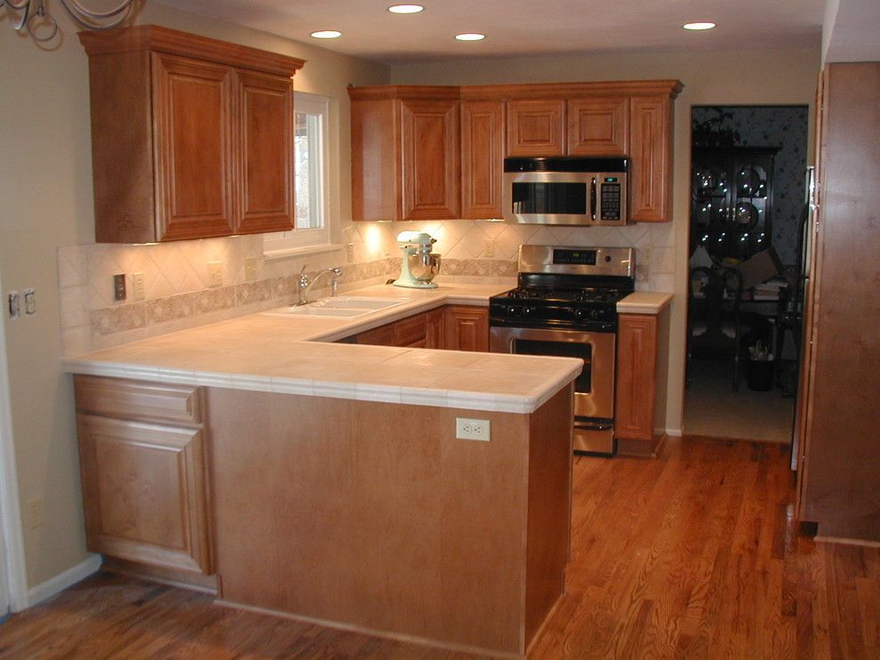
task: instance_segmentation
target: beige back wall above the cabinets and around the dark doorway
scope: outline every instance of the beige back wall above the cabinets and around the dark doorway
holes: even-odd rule
[[[667,428],[681,428],[684,405],[685,280],[690,197],[691,107],[694,105],[814,105],[821,44],[773,51],[654,52],[602,56],[523,57],[393,67],[396,85],[484,85],[677,78],[673,224],[676,298],[669,340]],[[811,110],[812,116],[812,110]],[[810,132],[812,135],[812,130]],[[812,152],[812,145],[811,145]],[[587,229],[589,231],[589,229]]]

